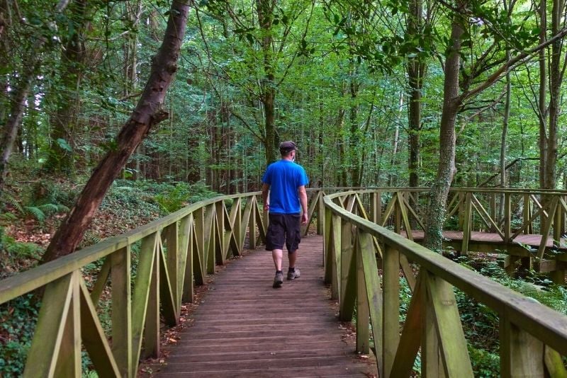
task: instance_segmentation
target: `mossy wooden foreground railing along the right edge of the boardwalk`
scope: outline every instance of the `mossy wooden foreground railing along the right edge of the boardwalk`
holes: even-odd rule
[[[561,355],[567,355],[567,316],[376,224],[385,222],[394,206],[382,212],[382,193],[352,191],[324,198],[325,281],[339,300],[342,320],[351,320],[356,308],[357,350],[368,353],[374,340],[380,377],[410,376],[419,350],[425,377],[473,377],[453,287],[498,313],[503,377],[565,377]],[[457,193],[464,193],[466,203],[476,203],[471,192]],[[368,194],[365,207],[363,195]],[[394,227],[411,229],[403,210],[410,207],[408,196],[398,191],[391,198],[404,204]],[[418,267],[417,277],[408,260]],[[412,290],[401,328],[400,269]]]

